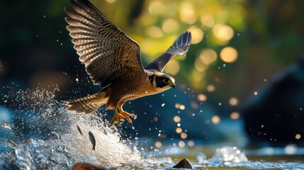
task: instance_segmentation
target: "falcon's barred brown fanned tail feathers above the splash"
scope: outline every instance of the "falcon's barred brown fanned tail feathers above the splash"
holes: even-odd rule
[[[68,106],[68,111],[89,114],[103,106],[107,101],[108,97],[106,96],[106,91],[102,91],[98,94],[67,100],[64,101],[64,103]]]

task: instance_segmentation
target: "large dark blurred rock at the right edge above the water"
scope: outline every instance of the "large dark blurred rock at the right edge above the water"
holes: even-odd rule
[[[253,96],[244,108],[249,145],[304,146],[304,55]],[[297,135],[298,134],[298,135]]]

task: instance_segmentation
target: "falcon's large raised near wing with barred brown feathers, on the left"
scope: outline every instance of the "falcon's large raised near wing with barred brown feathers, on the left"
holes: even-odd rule
[[[140,46],[128,38],[88,0],[71,1],[75,11],[64,8],[69,17],[69,35],[79,60],[94,84],[108,86],[130,69],[145,72],[140,60]]]

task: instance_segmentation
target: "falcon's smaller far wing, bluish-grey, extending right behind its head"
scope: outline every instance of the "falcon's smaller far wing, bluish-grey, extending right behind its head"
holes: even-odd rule
[[[171,58],[176,55],[186,55],[189,47],[191,45],[191,32],[186,31],[186,33],[182,34],[175,40],[173,45],[169,47],[169,49],[162,53],[155,60],[147,64],[145,69],[154,69],[158,72],[163,72],[166,64],[171,60]]]

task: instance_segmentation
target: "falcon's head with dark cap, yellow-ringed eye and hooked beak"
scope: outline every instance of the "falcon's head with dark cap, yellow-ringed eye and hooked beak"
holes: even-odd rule
[[[153,76],[150,77],[150,81],[157,91],[165,91],[170,88],[175,88],[175,79],[162,72],[154,72]]]

